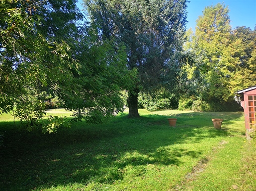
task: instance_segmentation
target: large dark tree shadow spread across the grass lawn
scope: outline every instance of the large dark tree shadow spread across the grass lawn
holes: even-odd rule
[[[147,172],[147,165],[180,166],[182,156],[200,158],[202,153],[173,146],[175,143],[182,145],[188,140],[200,143],[203,139],[228,135],[225,130],[209,128],[211,116],[209,113],[178,114],[175,115],[177,127],[173,128],[169,127],[168,116],[128,119],[122,115],[101,125],[87,126],[81,122],[55,135],[3,128],[5,147],[0,157],[0,190],[87,185],[92,181],[112,184],[123,180],[127,167],[132,166],[135,176],[142,176]],[[239,114],[230,114],[228,119],[239,117]]]

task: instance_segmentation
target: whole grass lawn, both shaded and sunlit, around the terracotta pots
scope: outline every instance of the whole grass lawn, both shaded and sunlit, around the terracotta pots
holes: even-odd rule
[[[29,133],[0,115],[0,191],[256,190],[256,144],[245,138],[243,112],[139,113],[57,134]],[[224,119],[221,130],[212,118]]]

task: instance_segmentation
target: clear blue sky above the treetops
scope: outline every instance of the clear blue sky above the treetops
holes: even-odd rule
[[[80,4],[83,0],[79,0]],[[254,30],[256,26],[256,0],[190,0],[187,6],[187,29],[195,30],[196,19],[202,15],[205,7],[215,5],[218,2],[228,6],[232,28],[246,26]]]

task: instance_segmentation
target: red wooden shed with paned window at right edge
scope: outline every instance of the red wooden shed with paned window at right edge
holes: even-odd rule
[[[245,112],[246,137],[253,126],[256,125],[256,86],[237,92],[241,106]]]

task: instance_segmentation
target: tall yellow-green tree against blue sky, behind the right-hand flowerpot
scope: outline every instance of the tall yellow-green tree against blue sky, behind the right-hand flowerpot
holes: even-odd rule
[[[229,89],[229,82],[233,78],[237,61],[232,57],[234,52],[230,52],[234,44],[231,41],[228,12],[227,7],[218,3],[215,6],[206,7],[203,16],[199,16],[197,20],[194,45],[196,55],[200,57],[199,71],[201,75],[205,75],[208,85],[205,92],[208,98],[202,97],[205,100],[227,101],[234,95]]]

